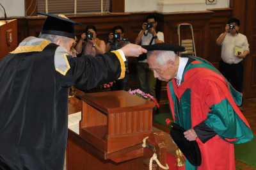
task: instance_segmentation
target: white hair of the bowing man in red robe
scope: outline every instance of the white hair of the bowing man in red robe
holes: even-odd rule
[[[147,56],[148,58],[156,56],[159,65],[164,65],[170,60],[175,61],[176,54],[171,50],[150,50]]]

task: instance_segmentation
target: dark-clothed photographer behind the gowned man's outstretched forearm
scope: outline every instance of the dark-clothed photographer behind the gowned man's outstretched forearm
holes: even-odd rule
[[[115,26],[112,33],[109,34],[109,40],[106,44],[106,51],[118,50],[127,45],[129,42],[128,38],[124,38],[124,28],[122,26]],[[125,63],[125,77],[124,79],[117,80],[112,87],[112,90],[125,90],[129,84],[129,69],[128,69],[128,58]]]

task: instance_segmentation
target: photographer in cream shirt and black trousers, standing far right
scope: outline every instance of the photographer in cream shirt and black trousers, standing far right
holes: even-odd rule
[[[238,33],[239,26],[238,19],[228,20],[225,32],[217,39],[217,44],[221,45],[220,72],[236,91],[242,93],[244,69],[241,61],[249,53],[249,44],[246,36]],[[235,47],[241,48],[243,51],[235,54]],[[242,106],[239,109],[243,111]]]

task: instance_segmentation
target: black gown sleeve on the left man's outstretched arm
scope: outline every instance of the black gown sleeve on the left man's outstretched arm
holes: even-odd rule
[[[113,52],[96,56],[84,55],[81,58],[67,57],[70,69],[65,75],[58,73],[62,87],[92,89],[100,84],[116,81],[125,73],[125,66],[122,65],[124,61],[120,61]]]

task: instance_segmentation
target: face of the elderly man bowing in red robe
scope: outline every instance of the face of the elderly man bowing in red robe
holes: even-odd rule
[[[159,65],[156,56],[148,58],[148,65],[151,70],[154,72],[154,77],[160,81],[169,82],[175,77],[174,75],[174,63],[173,61],[168,61],[163,65]]]

